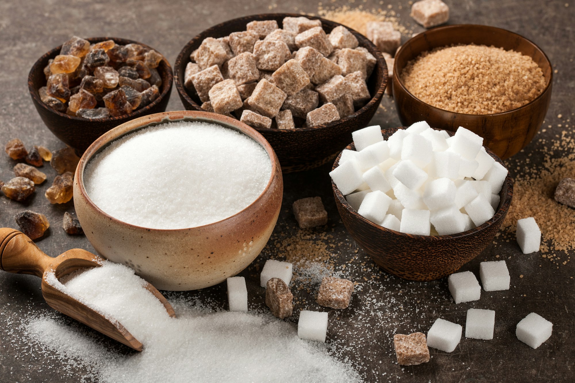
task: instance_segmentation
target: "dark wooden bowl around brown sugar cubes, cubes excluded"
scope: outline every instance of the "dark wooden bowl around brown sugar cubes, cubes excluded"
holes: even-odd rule
[[[187,110],[204,110],[200,106],[202,103],[197,95],[188,92],[183,84],[184,71],[187,63],[190,62],[190,53],[197,49],[206,37],[224,37],[232,32],[246,30],[246,24],[254,20],[276,20],[281,25],[283,18],[286,16],[300,17],[302,15],[269,13],[235,18],[206,29],[200,35],[191,39],[179,53],[174,65],[175,86],[184,107]],[[321,20],[326,33],[341,25],[319,17],[307,17]],[[372,98],[363,108],[350,114],[350,116],[328,124],[318,125],[314,128],[298,128],[294,130],[256,129],[266,137],[266,140],[274,148],[284,173],[307,170],[331,161],[351,141],[351,132],[366,127],[377,111],[388,81],[388,69],[385,65],[385,60],[371,41],[367,40],[361,33],[355,32],[351,28],[348,29],[358,39],[359,46],[367,48],[377,58],[377,64],[375,64],[373,73],[367,79],[367,88]]]

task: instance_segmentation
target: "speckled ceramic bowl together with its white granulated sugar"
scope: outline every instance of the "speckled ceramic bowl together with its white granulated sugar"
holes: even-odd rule
[[[162,290],[216,285],[270,238],[283,194],[270,144],[233,118],[165,112],[106,132],[83,154],[74,206],[98,254]]]

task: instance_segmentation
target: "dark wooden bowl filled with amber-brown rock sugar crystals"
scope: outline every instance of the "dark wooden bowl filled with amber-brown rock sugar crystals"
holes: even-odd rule
[[[28,89],[48,129],[81,155],[117,125],[164,112],[172,81],[170,63],[148,45],[72,36],[34,63]]]

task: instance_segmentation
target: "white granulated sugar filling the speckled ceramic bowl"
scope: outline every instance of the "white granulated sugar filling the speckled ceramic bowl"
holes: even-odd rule
[[[114,141],[88,164],[84,184],[98,208],[129,224],[197,227],[240,212],[269,182],[264,148],[207,122],[170,122]]]

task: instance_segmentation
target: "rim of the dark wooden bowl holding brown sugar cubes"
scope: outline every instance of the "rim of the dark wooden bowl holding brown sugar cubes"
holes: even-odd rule
[[[188,41],[186,43],[186,45],[184,45],[182,50],[178,53],[178,57],[176,58],[175,63],[174,63],[174,68],[176,68],[176,71],[177,71],[176,74],[174,75],[174,82],[175,82],[175,87],[176,87],[180,97],[184,98],[186,100],[186,102],[188,104],[194,106],[194,108],[204,110],[201,108],[201,105],[198,105],[190,97],[190,95],[187,93],[187,91],[186,91],[185,87],[182,85],[182,82],[180,81],[180,78],[178,75],[179,68],[183,66],[185,60],[189,60],[189,56],[185,55],[184,52],[187,50],[187,48],[192,43],[195,43],[196,40],[199,39],[200,35],[204,35],[204,33],[206,33],[206,32],[212,32],[213,30],[223,28],[229,22],[236,22],[236,21],[240,21],[243,19],[250,19],[250,18],[254,18],[254,17],[258,17],[258,18],[270,17],[270,18],[272,18],[272,17],[278,17],[278,16],[282,16],[282,17],[302,17],[303,16],[303,17],[309,18],[310,20],[320,20],[322,24],[333,25],[333,28],[335,28],[336,26],[340,26],[340,25],[344,26],[345,28],[350,30],[350,32],[356,37],[356,39],[358,39],[358,43],[360,43],[358,45],[359,47],[366,48],[364,46],[365,44],[367,44],[368,46],[371,45],[371,47],[373,47],[373,51],[376,53],[374,56],[375,56],[375,59],[377,60],[377,64],[382,66],[382,81],[377,86],[377,90],[375,91],[373,97],[371,97],[370,101],[367,102],[367,104],[363,105],[362,108],[356,110],[354,113],[348,114],[348,116],[340,118],[339,120],[327,122],[325,124],[316,125],[315,127],[310,127],[310,128],[308,128],[308,127],[296,128],[296,129],[258,128],[258,129],[256,129],[258,132],[266,132],[266,133],[267,132],[282,132],[279,134],[294,134],[294,132],[316,131],[318,129],[330,128],[330,127],[333,127],[333,126],[339,124],[340,122],[346,122],[346,121],[352,120],[353,118],[359,116],[359,114],[364,113],[368,109],[372,108],[375,104],[379,104],[379,102],[381,102],[381,99],[384,97],[385,89],[389,85],[389,82],[391,79],[388,75],[388,67],[387,67],[387,64],[384,60],[384,56],[382,55],[381,51],[379,51],[379,49],[377,49],[377,47],[375,47],[375,45],[373,43],[371,43],[371,41],[369,39],[367,39],[367,37],[363,36],[361,33],[357,32],[355,29],[352,29],[352,28],[348,27],[347,25],[340,24],[339,22],[327,20],[325,18],[317,17],[317,16],[309,16],[309,15],[298,14],[298,13],[283,13],[283,12],[256,13],[256,14],[250,14],[247,16],[236,17],[236,18],[233,18],[231,20],[221,22],[220,24],[211,26],[208,29],[202,30],[202,32],[200,32],[200,33],[198,33],[198,35],[194,36],[190,41]],[[323,26],[322,26],[322,29],[323,29]],[[361,43],[363,43],[364,45],[361,45]],[[187,62],[186,62],[186,64],[187,64]]]

